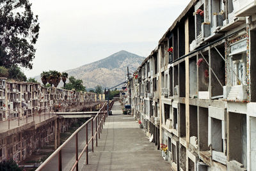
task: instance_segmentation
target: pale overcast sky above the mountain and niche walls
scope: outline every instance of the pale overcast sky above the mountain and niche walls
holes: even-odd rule
[[[70,3],[72,2],[72,3]],[[189,0],[31,1],[40,22],[33,69],[65,71],[120,50],[147,57]]]

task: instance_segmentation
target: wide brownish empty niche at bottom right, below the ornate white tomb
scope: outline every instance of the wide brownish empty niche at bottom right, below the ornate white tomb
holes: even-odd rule
[[[229,112],[229,158],[242,163],[246,168],[246,115]]]

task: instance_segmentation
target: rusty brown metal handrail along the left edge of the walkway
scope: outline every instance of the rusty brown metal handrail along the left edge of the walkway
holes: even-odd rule
[[[97,113],[97,115],[95,115],[95,117],[91,117],[88,121],[86,121],[86,123],[84,123],[82,126],[80,126],[74,133],[72,133],[72,135],[70,135],[70,137],[63,143],[60,145],[60,147],[58,147],[58,149],[56,149],[56,151],[54,151],[51,156],[49,156],[49,158],[47,158],[47,160],[44,161],[44,163],[42,163],[42,165],[40,165],[40,167],[38,167],[36,170],[42,170],[42,168],[45,167],[45,165],[47,165],[47,163],[52,160],[52,158],[54,158],[54,156],[56,156],[58,154],[58,170],[62,170],[62,163],[61,163],[61,149],[63,149],[63,147],[65,147],[65,145],[67,145],[68,142],[70,142],[70,140],[76,136],[76,161],[74,163],[74,165],[72,166],[71,170],[74,170],[74,168],[76,168],[76,170],[78,170],[78,162],[81,159],[81,156],[83,155],[83,152],[86,150],[86,165],[88,165],[88,145],[90,144],[90,142],[92,142],[92,151],[93,151],[93,140],[96,138],[96,146],[98,145],[98,136],[100,138],[100,133],[102,132],[102,128],[103,128],[103,124],[105,123],[105,119],[107,116],[107,112],[106,112],[106,103],[104,103],[104,105],[102,106],[102,108],[100,108],[99,112]],[[93,121],[96,120],[96,130],[95,130],[95,134],[93,134]],[[88,140],[88,123],[90,123],[92,121],[92,137],[90,138],[90,140]],[[98,123],[97,123],[98,121]],[[78,137],[77,134],[79,131],[81,131],[84,126],[86,126],[86,144],[84,145],[83,150],[81,151],[80,154],[78,154]]]

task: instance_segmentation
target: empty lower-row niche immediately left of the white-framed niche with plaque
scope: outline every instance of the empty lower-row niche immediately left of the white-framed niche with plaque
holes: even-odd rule
[[[208,147],[208,108],[199,107],[199,149],[209,150]]]

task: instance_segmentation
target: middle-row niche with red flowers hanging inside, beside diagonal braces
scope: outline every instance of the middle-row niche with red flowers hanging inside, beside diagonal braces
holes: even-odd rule
[[[208,51],[205,52],[203,55],[209,63],[209,56]],[[209,66],[205,62],[204,57],[201,54],[198,54],[198,91],[208,91],[209,89]]]

